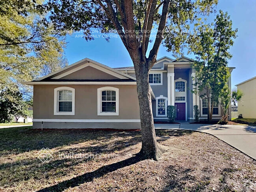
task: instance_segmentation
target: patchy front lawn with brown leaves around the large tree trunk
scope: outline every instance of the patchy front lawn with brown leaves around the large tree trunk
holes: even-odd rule
[[[256,161],[211,135],[158,129],[167,152],[139,161],[140,134],[0,129],[0,191],[256,190]]]

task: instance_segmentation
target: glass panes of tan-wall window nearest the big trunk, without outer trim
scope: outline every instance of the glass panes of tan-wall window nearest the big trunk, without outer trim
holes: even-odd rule
[[[114,90],[102,91],[102,112],[116,112],[116,92]]]

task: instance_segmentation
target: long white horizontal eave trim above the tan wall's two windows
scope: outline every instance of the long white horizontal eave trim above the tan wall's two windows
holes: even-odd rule
[[[21,82],[24,85],[136,85],[136,81],[122,82],[122,81],[30,81]]]

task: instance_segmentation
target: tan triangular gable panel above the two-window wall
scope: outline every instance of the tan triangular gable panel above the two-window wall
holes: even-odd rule
[[[101,70],[87,66],[60,79],[119,79]]]

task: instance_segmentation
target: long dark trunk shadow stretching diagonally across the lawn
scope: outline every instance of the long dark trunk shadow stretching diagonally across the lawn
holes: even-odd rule
[[[123,161],[119,161],[119,162],[116,162],[116,163],[113,163],[110,165],[102,166],[101,168],[99,168],[93,172],[85,173],[83,175],[74,177],[72,179],[62,181],[61,183],[58,183],[56,185],[53,185],[53,186],[50,186],[47,188],[43,188],[41,190],[38,190],[37,192],[46,192],[46,191],[59,192],[59,191],[63,191],[70,187],[73,188],[73,187],[81,185],[83,183],[91,182],[95,178],[102,177],[110,172],[113,172],[115,170],[118,170],[118,169],[126,167],[126,166],[130,166],[130,165],[135,164],[142,160],[143,159],[141,159],[138,156],[130,157],[129,159],[125,159]]]

